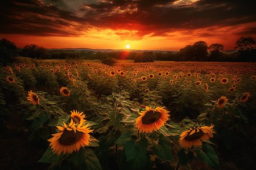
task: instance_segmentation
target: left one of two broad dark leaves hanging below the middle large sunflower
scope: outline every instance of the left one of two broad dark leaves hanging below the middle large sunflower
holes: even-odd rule
[[[141,138],[133,141],[131,138],[125,141],[125,155],[129,161],[133,158],[138,158],[146,154],[148,147],[147,138]]]

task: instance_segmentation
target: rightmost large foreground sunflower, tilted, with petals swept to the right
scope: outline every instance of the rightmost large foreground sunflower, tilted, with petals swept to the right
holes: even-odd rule
[[[205,141],[206,139],[213,138],[213,134],[215,131],[213,130],[214,125],[211,126],[203,126],[203,127],[197,127],[197,128],[190,128],[187,131],[184,131],[180,134],[179,143],[182,148],[191,148],[193,145],[195,147],[202,145],[202,141]]]

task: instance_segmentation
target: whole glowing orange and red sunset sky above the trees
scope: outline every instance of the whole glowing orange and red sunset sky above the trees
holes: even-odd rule
[[[176,50],[197,41],[233,50],[256,37],[253,1],[8,0],[0,39],[18,47]]]

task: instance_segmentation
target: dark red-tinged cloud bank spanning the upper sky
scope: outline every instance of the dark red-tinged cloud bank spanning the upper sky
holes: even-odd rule
[[[256,20],[251,1],[201,0],[176,3],[174,0],[113,0],[83,3],[77,11],[68,10],[63,0],[44,2],[47,3],[39,0],[0,2],[3,25],[0,33],[80,36],[90,28],[96,28],[113,29],[122,40],[141,40],[145,35],[168,36],[168,33],[175,31],[207,28],[213,32],[213,26],[220,28]],[[49,5],[51,2],[53,5]],[[77,15],[77,12],[82,12],[84,16]],[[135,32],[118,33],[119,29]],[[204,32],[200,36],[213,36],[212,32]],[[245,28],[237,35],[243,33],[255,34],[255,27]]]

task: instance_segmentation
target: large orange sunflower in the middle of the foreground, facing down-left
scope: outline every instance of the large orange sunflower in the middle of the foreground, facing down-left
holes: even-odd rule
[[[160,129],[161,126],[168,120],[168,116],[170,116],[169,111],[163,109],[164,107],[157,107],[155,109],[151,109],[146,107],[146,111],[143,111],[139,114],[138,118],[136,118],[136,128],[139,129],[140,132],[152,132],[153,130]]]

